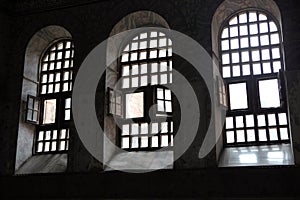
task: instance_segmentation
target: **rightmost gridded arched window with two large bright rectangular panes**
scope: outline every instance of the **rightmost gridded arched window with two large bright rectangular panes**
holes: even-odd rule
[[[289,142],[278,79],[284,70],[278,22],[264,11],[240,11],[224,22],[219,44],[229,102],[225,145]]]

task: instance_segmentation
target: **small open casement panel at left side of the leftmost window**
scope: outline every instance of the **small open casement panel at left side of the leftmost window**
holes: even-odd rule
[[[25,122],[31,124],[39,124],[40,116],[40,99],[38,97],[28,95],[26,103]]]

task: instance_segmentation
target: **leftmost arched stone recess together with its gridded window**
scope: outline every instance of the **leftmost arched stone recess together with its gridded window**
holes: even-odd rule
[[[56,25],[40,29],[28,42],[24,57],[17,140],[15,164],[17,174],[64,172],[67,168],[67,126],[70,121],[58,120],[58,117],[64,118],[70,112],[69,108],[63,107],[69,102],[63,102],[63,100],[71,97],[71,92],[64,91],[63,87],[64,83],[68,83],[72,87],[72,78],[69,77],[69,80],[65,80],[63,73],[71,71],[71,68],[66,67],[65,62],[69,61],[69,64],[73,64],[71,63],[74,50],[72,43],[70,32]],[[59,66],[60,63],[61,66]],[[58,73],[61,73],[60,81],[59,76],[56,77]],[[70,89],[68,88],[68,90]],[[45,101],[47,106],[45,106]],[[48,113],[46,115],[48,118],[45,119],[43,110],[46,107],[50,110],[53,101],[57,104],[56,109],[52,112],[53,117]],[[52,108],[54,107],[52,106]],[[52,120],[55,123],[50,123]],[[58,130],[62,129],[66,130],[66,136],[64,136],[64,131],[62,131],[62,135],[59,135],[61,132]],[[56,137],[57,143],[55,144]],[[63,141],[65,141],[65,148],[62,148],[61,142]],[[45,156],[47,157],[46,161]]]

